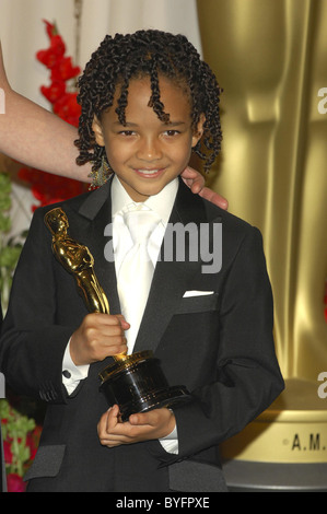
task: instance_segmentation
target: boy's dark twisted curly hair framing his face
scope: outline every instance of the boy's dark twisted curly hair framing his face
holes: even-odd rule
[[[185,36],[154,30],[116,34],[115,37],[108,35],[92,54],[79,79],[81,117],[79,139],[75,141],[80,151],[78,164],[92,162],[92,170],[96,171],[106,159],[104,147],[96,144],[92,122],[94,115],[101,119],[102,113],[113,105],[117,85],[120,86],[120,96],[116,113],[121,125],[126,124],[129,82],[143,77],[149,77],[151,82],[149,106],[162,121],[170,121],[170,114],[164,112],[160,100],[161,75],[184,87],[188,94],[194,129],[201,114],[205,114],[203,136],[192,150],[205,161],[205,171],[210,168],[222,140],[219,110],[221,89],[214,73]]]

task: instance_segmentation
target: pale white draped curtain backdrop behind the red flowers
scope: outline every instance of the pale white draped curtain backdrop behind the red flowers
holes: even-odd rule
[[[0,37],[4,65],[12,87],[49,108],[39,93],[48,84],[48,70],[35,59],[48,47],[43,20],[56,22],[67,44],[67,56],[75,56],[74,0],[0,0]],[[83,0],[80,60],[82,69],[106,34],[159,28],[183,33],[201,51],[196,0]],[[26,187],[14,185],[12,234],[28,227],[31,206]]]

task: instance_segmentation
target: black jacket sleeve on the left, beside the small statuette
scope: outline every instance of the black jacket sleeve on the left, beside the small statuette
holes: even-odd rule
[[[13,279],[2,326],[0,369],[19,394],[65,402],[62,358],[73,331],[56,324],[56,284],[51,236],[44,209],[32,220]]]

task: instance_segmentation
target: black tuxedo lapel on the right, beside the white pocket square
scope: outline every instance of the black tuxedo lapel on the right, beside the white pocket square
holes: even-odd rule
[[[196,220],[196,221],[195,221]],[[179,183],[176,201],[170,219],[171,226],[179,223],[207,222],[206,209],[202,200],[189,191],[187,186]],[[189,289],[196,273],[200,272],[200,259],[197,261],[179,261],[174,256],[172,261],[165,260],[163,256],[164,245],[167,244],[167,231],[162,246],[162,258],[157,261],[149,300],[140,325],[140,330],[135,346],[135,351],[155,350],[162,336],[170,324],[173,315],[178,308],[182,297]],[[170,242],[168,242],[170,243]],[[185,255],[188,255],[186,244]]]

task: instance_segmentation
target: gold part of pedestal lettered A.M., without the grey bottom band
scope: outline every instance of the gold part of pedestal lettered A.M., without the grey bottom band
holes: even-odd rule
[[[327,399],[318,382],[285,381],[279,398],[240,434],[222,444],[224,459],[327,463]]]

